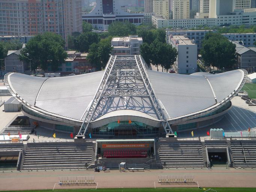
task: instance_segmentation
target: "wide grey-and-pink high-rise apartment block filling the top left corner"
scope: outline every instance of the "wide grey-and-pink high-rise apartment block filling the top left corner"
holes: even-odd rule
[[[36,35],[82,31],[81,0],[1,0],[0,34]]]

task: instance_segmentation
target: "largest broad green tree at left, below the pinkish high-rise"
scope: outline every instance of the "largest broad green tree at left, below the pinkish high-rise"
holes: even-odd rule
[[[53,71],[57,71],[67,57],[64,47],[65,41],[60,35],[50,32],[38,34],[21,50],[20,59],[31,62],[33,71],[38,67],[47,71],[49,66]]]

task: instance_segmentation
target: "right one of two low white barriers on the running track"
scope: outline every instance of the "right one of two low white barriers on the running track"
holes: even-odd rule
[[[158,175],[159,183],[194,183],[194,175]]]

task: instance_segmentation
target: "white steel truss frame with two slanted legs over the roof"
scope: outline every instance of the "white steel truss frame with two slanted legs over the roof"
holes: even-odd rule
[[[90,122],[115,110],[137,110],[161,121],[173,133],[166,111],[158,101],[140,55],[111,55],[98,90],[81,117],[77,136],[84,136]]]

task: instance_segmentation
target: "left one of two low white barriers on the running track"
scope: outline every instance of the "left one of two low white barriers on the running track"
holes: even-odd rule
[[[60,184],[95,184],[94,176],[59,177]]]

